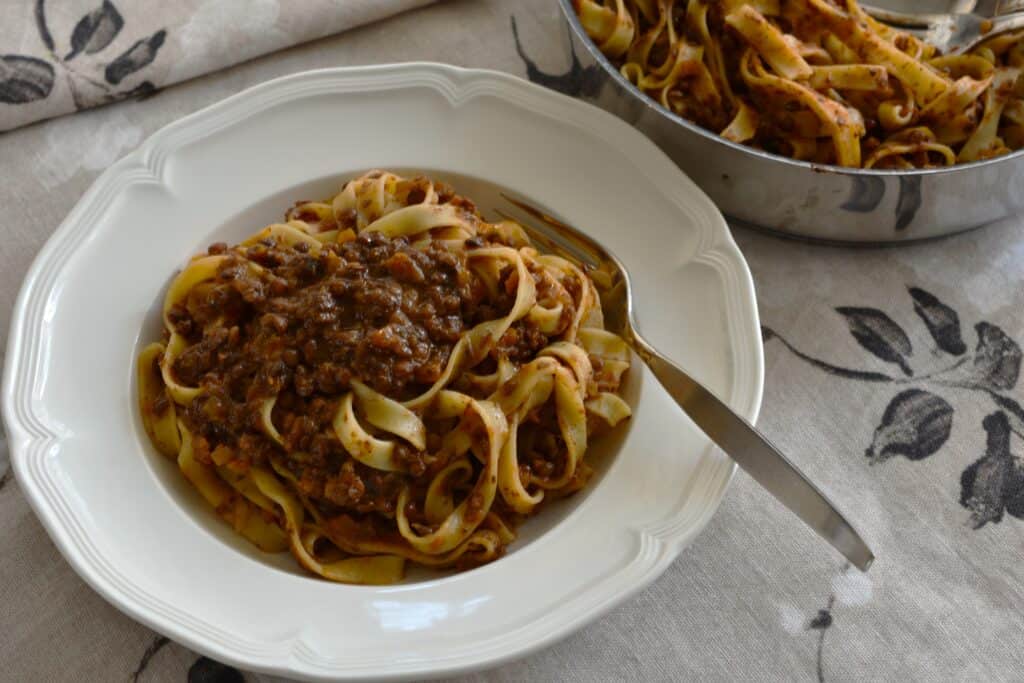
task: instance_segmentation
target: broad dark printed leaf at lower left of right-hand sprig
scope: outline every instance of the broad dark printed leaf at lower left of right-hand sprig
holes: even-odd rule
[[[872,464],[896,455],[924,460],[945,444],[952,424],[953,407],[948,401],[929,391],[907,389],[886,408],[864,455]]]

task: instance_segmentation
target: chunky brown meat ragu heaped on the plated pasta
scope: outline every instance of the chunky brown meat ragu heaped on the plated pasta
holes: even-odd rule
[[[444,188],[440,195],[461,200]],[[420,200],[410,193],[410,203]],[[477,237],[466,248],[489,244]],[[429,455],[438,437],[431,436],[425,452],[397,447],[395,457],[410,474],[369,468],[345,453],[331,427],[340,398],[353,379],[398,400],[427,389],[465,331],[508,312],[516,273],[503,271],[499,289],[506,296],[484,303],[484,285],[467,267],[464,251],[439,241],[414,248],[374,231],[325,245],[317,256],[305,245],[273,239],[249,247],[218,243],[209,253],[227,257],[217,278],[194,288],[169,312],[174,330],[189,342],[172,373],[204,388],[181,416],[195,435],[197,460],[227,463],[239,472],[273,460],[329,517],[344,514],[371,525],[375,515],[393,517],[402,486],[422,489],[443,466]],[[262,270],[247,268],[246,259]],[[556,296],[545,281],[550,275],[532,274],[539,300]],[[571,299],[561,303],[564,329],[575,311]],[[480,367],[494,367],[500,357],[528,360],[548,343],[548,336],[520,321]],[[260,403],[274,395],[272,421],[284,447],[259,427]],[[409,512],[422,520],[419,511]]]

